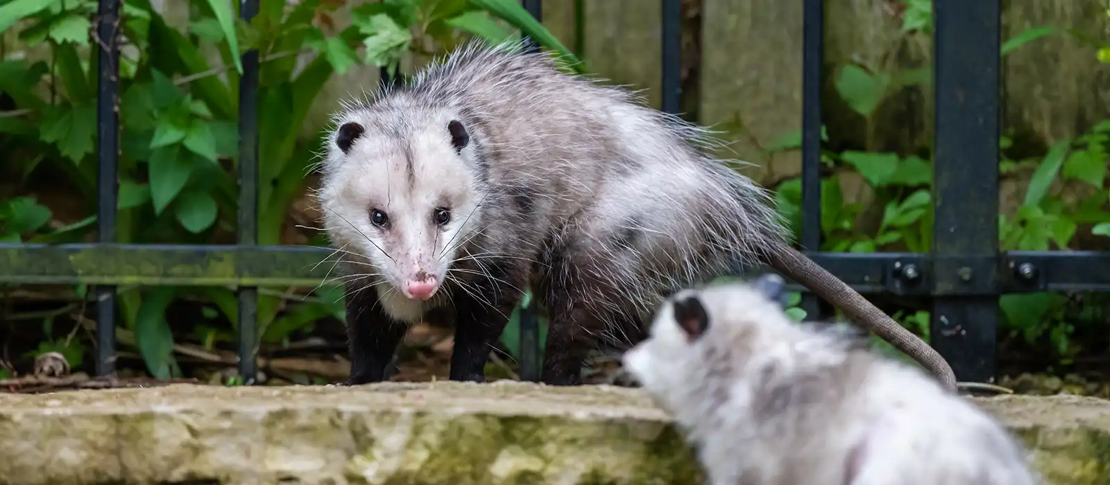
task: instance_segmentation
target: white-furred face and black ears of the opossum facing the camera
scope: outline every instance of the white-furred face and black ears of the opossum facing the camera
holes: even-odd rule
[[[428,300],[478,227],[474,143],[448,112],[356,110],[329,140],[320,200],[332,244],[380,295]],[[470,217],[468,217],[470,216]]]

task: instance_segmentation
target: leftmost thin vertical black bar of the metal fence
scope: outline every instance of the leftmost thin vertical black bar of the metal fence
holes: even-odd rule
[[[97,6],[97,38],[100,40],[97,69],[97,239],[115,241],[115,204],[119,164],[120,50],[117,31],[120,0],[100,0]],[[115,373],[115,287],[98,286],[97,375]]]

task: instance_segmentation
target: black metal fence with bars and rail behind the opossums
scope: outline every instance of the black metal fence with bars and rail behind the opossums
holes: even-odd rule
[[[523,0],[539,18],[542,0]],[[820,83],[824,1],[805,1],[803,70],[804,248],[820,244]],[[326,268],[312,269],[323,248],[258,242],[258,80],[255,51],[242,56],[240,79],[239,244],[235,246],[135,246],[114,244],[118,166],[120,0],[99,0],[97,30],[108,40],[99,56],[99,238],[83,245],[2,245],[4,283],[95,285],[98,374],[114,372],[115,285],[232,285],[239,288],[239,371],[256,373],[259,286],[316,285]],[[679,105],[679,0],[662,0],[663,110]],[[1001,0],[934,0],[935,164],[932,251],[808,255],[862,293],[932,297],[931,343],[962,381],[995,376],[998,297],[1005,292],[1108,291],[1110,254],[1010,251],[998,247],[1000,4]],[[252,18],[259,0],[241,0]],[[712,49],[710,47],[707,47]],[[17,262],[18,261],[18,262]],[[229,264],[231,262],[231,264]],[[814,312],[816,301],[804,305]],[[538,378],[534,312],[521,320],[521,374]]]

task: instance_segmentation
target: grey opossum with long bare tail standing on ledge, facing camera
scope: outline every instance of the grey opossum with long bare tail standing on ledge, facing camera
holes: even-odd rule
[[[769,262],[930,369],[928,344],[787,244],[768,193],[712,133],[524,43],[471,41],[334,116],[319,202],[350,293],[347,384],[379,381],[418,320],[454,320],[450,378],[484,381],[525,288],[549,313],[541,380],[634,343],[667,295]]]

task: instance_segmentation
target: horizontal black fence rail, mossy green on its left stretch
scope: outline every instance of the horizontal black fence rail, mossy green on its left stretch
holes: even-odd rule
[[[807,252],[861,293],[1000,295],[1029,291],[1110,291],[1110,252],[1010,251],[946,261],[935,272],[928,252]],[[337,256],[317,246],[0,245],[0,282],[22,285],[316,286],[339,275]],[[989,280],[973,288],[945,283]],[[970,271],[970,275],[969,275]],[[791,283],[795,289],[800,289]]]

